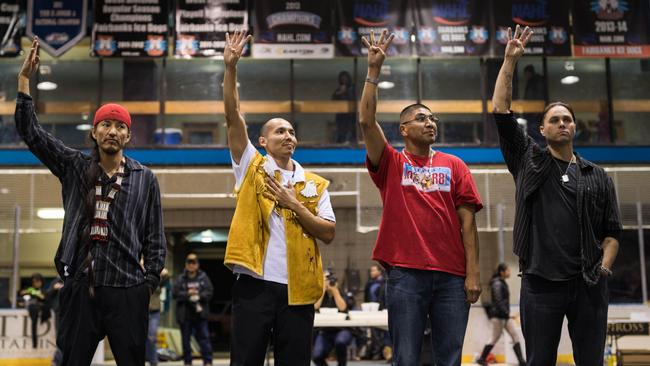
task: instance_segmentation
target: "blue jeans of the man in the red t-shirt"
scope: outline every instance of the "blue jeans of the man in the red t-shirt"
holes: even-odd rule
[[[432,363],[460,365],[469,316],[464,277],[393,267],[388,271],[386,302],[393,365],[420,364],[427,316],[431,321]]]

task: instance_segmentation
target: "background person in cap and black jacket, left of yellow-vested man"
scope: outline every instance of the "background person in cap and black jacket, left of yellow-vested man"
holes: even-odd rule
[[[172,297],[176,300],[176,321],[183,338],[183,363],[192,364],[190,337],[194,333],[201,347],[203,365],[212,365],[212,344],[208,333],[208,304],[212,298],[212,282],[199,269],[199,258],[190,253],[185,258],[185,270],[174,281]]]

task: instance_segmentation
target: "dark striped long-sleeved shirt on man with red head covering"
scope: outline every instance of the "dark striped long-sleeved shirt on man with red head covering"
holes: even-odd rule
[[[79,234],[88,225],[84,198],[88,193],[86,170],[91,157],[71,149],[45,131],[38,123],[32,98],[19,93],[16,100],[16,130],[29,150],[61,182],[63,233],[54,264],[61,275],[75,273],[79,258]],[[106,195],[116,176],[102,177]],[[93,186],[94,189],[94,186]],[[160,189],[154,174],[133,159],[126,158],[122,189],[108,213],[109,241],[92,246],[96,286],[130,287],[147,282],[155,289],[165,263],[167,246],[163,231]],[[140,258],[144,258],[144,269]]]

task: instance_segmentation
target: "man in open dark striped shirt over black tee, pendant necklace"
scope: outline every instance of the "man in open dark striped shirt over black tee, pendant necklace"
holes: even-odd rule
[[[508,30],[492,103],[503,157],[515,179],[514,252],[522,271],[521,325],[528,365],[556,363],[564,317],[578,365],[602,364],[607,278],[621,230],[612,180],[573,150],[572,108],[544,109],[540,147],[519,128],[510,104],[512,78],[532,31]]]

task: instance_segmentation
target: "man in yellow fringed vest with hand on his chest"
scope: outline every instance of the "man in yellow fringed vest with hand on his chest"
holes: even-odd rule
[[[329,182],[291,159],[297,140],[291,123],[272,118],[259,144],[248,139],[239,111],[237,61],[250,36],[226,34],[223,100],[237,207],[224,263],[237,280],[232,289],[231,366],[259,366],[271,335],[275,365],[308,366],[314,303],[323,294],[316,239],[330,243],[335,217]]]

